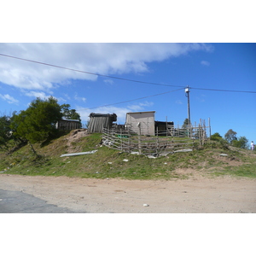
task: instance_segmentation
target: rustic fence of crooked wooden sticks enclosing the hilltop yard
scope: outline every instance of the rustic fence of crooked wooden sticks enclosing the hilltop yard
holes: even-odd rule
[[[186,152],[195,149],[195,144],[203,145],[209,137],[210,126],[183,125],[166,131],[155,131],[155,136],[143,136],[125,129],[103,129],[102,143],[108,148],[131,154],[145,154],[154,157]]]

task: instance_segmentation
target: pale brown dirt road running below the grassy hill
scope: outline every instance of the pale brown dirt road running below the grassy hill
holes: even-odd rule
[[[256,180],[247,178],[130,181],[1,174],[0,189],[23,191],[74,212],[256,212]]]

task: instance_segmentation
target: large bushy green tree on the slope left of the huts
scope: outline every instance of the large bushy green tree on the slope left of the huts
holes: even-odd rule
[[[61,106],[50,96],[46,100],[37,98],[26,110],[15,114],[10,127],[14,135],[26,140],[36,154],[32,143],[42,143],[55,133],[55,123],[61,119]]]

